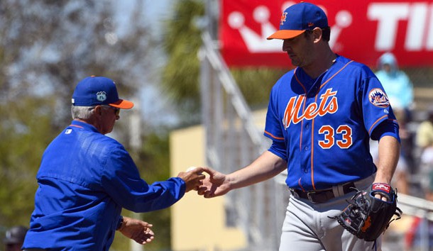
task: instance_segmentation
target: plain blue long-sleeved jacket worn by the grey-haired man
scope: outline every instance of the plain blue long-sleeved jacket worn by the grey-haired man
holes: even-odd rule
[[[185,194],[180,178],[148,184],[120,143],[80,121],[48,145],[36,178],[23,248],[109,250],[122,208],[154,211]]]

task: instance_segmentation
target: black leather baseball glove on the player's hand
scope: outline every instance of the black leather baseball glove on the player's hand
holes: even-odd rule
[[[375,194],[385,196],[388,201],[375,198]],[[349,206],[335,218],[350,233],[366,241],[376,240],[392,221],[401,218],[397,193],[388,184],[373,183],[366,191],[356,192],[348,202]]]

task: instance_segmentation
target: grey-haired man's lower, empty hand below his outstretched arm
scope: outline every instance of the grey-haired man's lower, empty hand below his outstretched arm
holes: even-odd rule
[[[121,225],[119,232],[127,238],[135,240],[137,243],[144,245],[155,238],[155,234],[150,229],[153,225],[146,221],[140,221],[129,217],[124,217],[124,223]]]

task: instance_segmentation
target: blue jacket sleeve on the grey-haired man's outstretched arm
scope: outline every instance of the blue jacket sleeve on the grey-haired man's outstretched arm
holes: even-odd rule
[[[114,147],[102,171],[102,186],[122,207],[134,212],[167,208],[185,194],[185,182],[170,178],[148,184],[141,179],[136,164],[121,145]]]

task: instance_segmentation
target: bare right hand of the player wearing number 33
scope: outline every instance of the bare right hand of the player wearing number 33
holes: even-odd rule
[[[207,169],[209,177],[203,180],[199,186],[197,194],[203,195],[204,198],[213,198],[224,195],[230,191],[229,180],[226,174],[217,172],[214,169]]]

